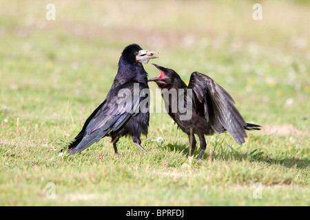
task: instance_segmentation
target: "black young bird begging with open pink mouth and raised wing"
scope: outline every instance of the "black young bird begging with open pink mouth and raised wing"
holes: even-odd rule
[[[245,129],[260,130],[259,125],[248,124],[243,120],[231,96],[209,76],[193,72],[187,86],[173,69],[153,65],[161,74],[149,81],[156,82],[161,88],[167,112],[179,128],[187,133],[189,156],[196,148],[194,134],[199,137],[201,152],[198,159],[201,159],[207,146],[205,135],[228,131],[238,144],[242,144],[247,137]],[[190,92],[192,97],[188,96]],[[184,111],[185,107],[189,112]],[[191,113],[190,118],[187,113]]]

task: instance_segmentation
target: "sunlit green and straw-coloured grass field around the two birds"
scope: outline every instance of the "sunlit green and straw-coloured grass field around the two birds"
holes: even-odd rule
[[[55,21],[47,3],[0,1],[1,206],[310,206],[307,2],[263,1],[262,21],[251,1],[54,1]],[[211,76],[263,130],[242,146],[207,137],[198,161],[169,116],[152,113],[147,154],[123,137],[118,156],[107,138],[59,155],[130,43],[185,81]]]

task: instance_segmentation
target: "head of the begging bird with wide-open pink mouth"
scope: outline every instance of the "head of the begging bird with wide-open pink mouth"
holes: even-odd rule
[[[161,89],[173,87],[173,85],[182,82],[180,76],[178,76],[178,74],[173,69],[161,67],[155,63],[152,63],[152,65],[154,65],[159,70],[160,74],[158,77],[151,78],[148,81],[154,81]]]

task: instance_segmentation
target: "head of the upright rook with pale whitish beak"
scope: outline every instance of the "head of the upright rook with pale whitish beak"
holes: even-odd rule
[[[122,52],[121,58],[125,59],[130,63],[148,63],[150,59],[158,58],[157,56],[153,56],[154,54],[158,54],[158,52],[154,50],[142,50],[142,48],[137,44],[131,44],[125,47]]]

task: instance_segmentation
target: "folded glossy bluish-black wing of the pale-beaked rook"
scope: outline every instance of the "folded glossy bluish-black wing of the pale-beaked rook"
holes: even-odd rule
[[[121,129],[138,113],[144,99],[134,92],[133,83],[110,90],[105,101],[87,118],[83,129],[70,144],[70,153],[79,153],[111,132]]]

